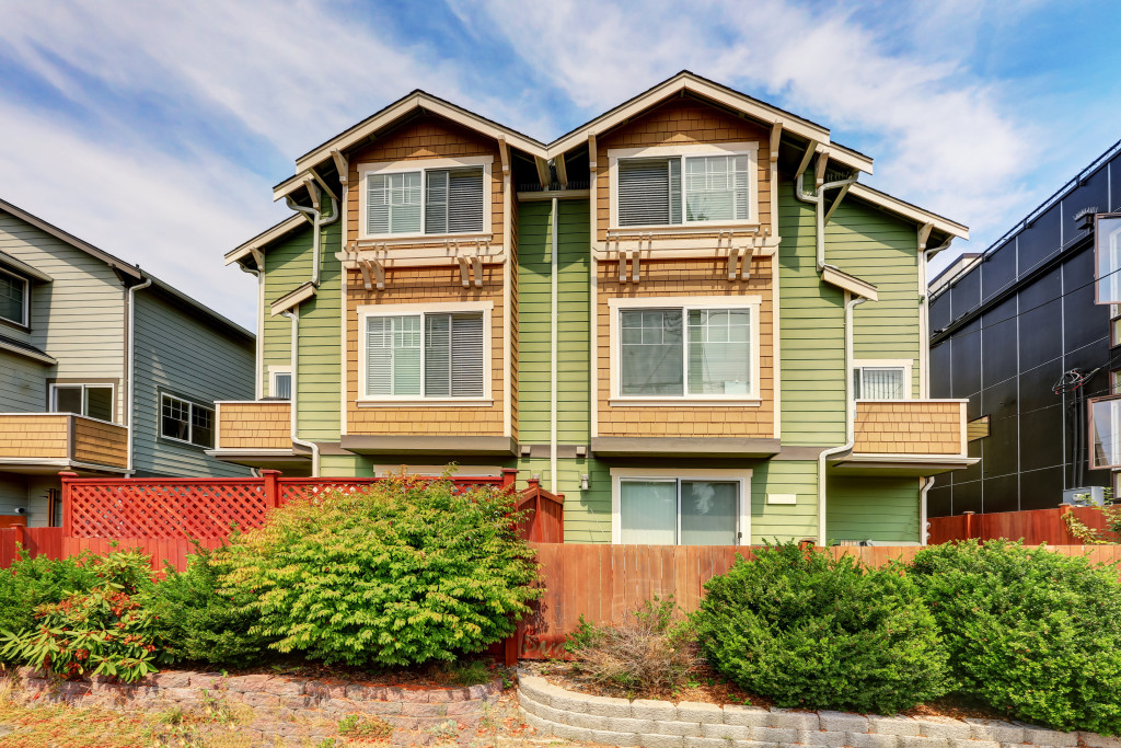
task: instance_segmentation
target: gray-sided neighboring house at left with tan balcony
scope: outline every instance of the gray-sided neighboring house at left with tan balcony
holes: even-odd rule
[[[207,456],[256,339],[0,200],[0,527],[59,521],[58,472],[244,477]]]

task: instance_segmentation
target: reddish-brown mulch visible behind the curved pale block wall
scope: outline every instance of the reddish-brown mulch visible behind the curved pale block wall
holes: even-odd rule
[[[568,691],[586,693],[594,696],[614,696],[618,699],[657,699],[660,701],[695,701],[705,704],[751,704],[771,709],[775,700],[749,693],[740,686],[726,681],[707,665],[697,667],[689,683],[678,690],[636,690],[610,683],[596,683],[580,668],[580,662],[547,662],[522,664],[522,667],[535,675],[544,677],[553,685]],[[1008,720],[1009,717],[984,704],[973,704],[953,696],[937,699],[928,704],[904,712],[907,717],[953,717],[955,719],[978,718]]]

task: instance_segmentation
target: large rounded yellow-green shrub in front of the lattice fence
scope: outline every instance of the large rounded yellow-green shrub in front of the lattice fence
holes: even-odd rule
[[[232,546],[225,591],[270,646],[351,665],[454,661],[515,630],[539,592],[515,497],[397,477],[287,504]]]

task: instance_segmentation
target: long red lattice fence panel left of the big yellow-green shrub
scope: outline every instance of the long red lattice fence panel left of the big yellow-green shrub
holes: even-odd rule
[[[83,482],[70,487],[73,537],[220,539],[260,527],[260,480]]]

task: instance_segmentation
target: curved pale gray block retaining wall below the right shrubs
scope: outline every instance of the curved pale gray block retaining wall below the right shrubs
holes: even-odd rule
[[[526,722],[545,735],[647,748],[1121,748],[1094,732],[1058,732],[1018,722],[949,717],[878,717],[683,701],[629,701],[566,691],[518,676]]]

